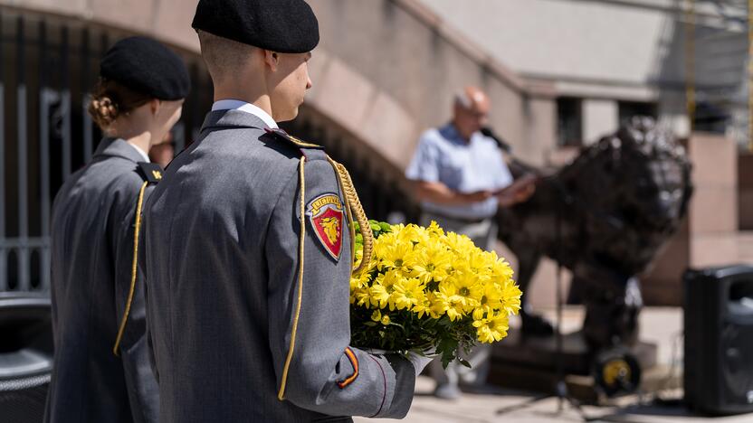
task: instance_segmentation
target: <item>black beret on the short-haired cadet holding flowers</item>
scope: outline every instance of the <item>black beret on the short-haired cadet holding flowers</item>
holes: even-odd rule
[[[196,30],[272,52],[310,52],[319,22],[303,0],[199,0]]]

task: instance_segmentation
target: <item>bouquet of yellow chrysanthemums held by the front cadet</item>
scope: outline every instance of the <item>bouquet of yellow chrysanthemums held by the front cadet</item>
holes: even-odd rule
[[[464,235],[369,221],[368,266],[350,280],[351,343],[396,353],[436,354],[443,365],[473,344],[507,336],[520,309],[512,268]],[[363,258],[357,228],[356,259]],[[467,362],[463,362],[467,364]]]

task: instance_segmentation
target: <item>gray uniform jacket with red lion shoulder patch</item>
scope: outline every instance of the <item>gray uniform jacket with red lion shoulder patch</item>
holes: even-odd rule
[[[335,259],[309,221],[295,348],[278,400],[299,294],[302,152],[265,128],[243,111],[211,112],[144,211],[160,420],[402,418],[413,399],[413,365],[348,347],[348,231]],[[303,153],[306,204],[339,196],[324,153]]]

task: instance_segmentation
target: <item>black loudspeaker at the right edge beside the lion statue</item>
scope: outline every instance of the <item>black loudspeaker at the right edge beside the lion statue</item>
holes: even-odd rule
[[[683,279],[686,404],[753,412],[753,267],[688,270]]]

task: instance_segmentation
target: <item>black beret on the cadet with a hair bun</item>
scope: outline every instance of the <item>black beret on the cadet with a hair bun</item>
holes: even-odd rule
[[[100,76],[155,99],[185,99],[191,89],[186,63],[148,37],[116,42],[100,62]]]

